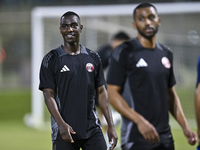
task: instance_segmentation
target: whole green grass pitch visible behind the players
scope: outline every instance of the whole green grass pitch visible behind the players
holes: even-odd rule
[[[30,97],[29,90],[0,91],[0,150],[51,150],[50,126],[46,130],[36,130],[23,123],[24,115],[30,112]],[[180,127],[173,126],[176,150],[196,149],[197,145],[188,145]],[[116,129],[119,133],[119,127]],[[192,129],[196,131],[194,126]]]

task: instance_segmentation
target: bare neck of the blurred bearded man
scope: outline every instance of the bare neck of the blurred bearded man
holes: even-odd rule
[[[156,36],[151,39],[147,39],[141,35],[138,35],[138,41],[145,48],[153,49],[156,47]]]

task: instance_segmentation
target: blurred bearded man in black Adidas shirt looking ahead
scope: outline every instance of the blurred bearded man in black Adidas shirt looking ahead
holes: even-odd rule
[[[117,47],[110,59],[108,96],[122,115],[122,150],[174,150],[169,111],[189,144],[197,140],[174,88],[172,52],[156,42],[159,26],[155,6],[139,4],[133,12],[138,36]]]

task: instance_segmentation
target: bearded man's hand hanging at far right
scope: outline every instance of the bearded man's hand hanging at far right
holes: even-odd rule
[[[197,141],[197,135],[189,128],[183,129],[185,137],[188,139],[190,145],[195,145]]]

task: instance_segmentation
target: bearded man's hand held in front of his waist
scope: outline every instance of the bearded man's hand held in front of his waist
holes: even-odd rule
[[[160,137],[155,127],[150,124],[146,119],[141,119],[137,123],[137,127],[139,132],[149,143],[154,144],[160,141]]]

